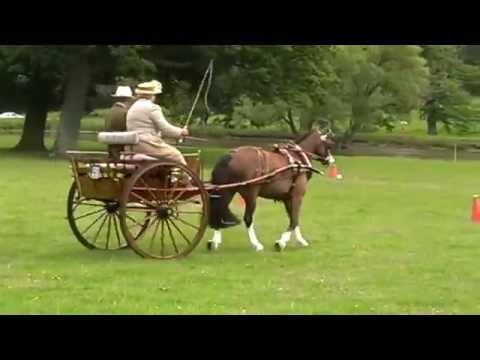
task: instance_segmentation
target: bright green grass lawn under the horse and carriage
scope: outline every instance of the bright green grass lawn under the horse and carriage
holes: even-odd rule
[[[2,136],[0,148],[17,140]],[[206,151],[209,166],[220,152]],[[261,201],[265,252],[239,227],[217,253],[206,250],[209,231],[187,259],[155,262],[84,249],[65,220],[68,163],[0,151],[0,313],[480,313],[480,228],[469,221],[478,164],[338,163],[343,181],[310,184],[302,227],[311,248],[274,252],[287,218]]]

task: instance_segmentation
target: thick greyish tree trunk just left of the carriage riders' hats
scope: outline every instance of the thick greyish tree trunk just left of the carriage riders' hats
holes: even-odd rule
[[[86,53],[80,54],[70,68],[60,124],[55,141],[55,152],[64,154],[77,145],[80,124],[85,113],[90,65]]]

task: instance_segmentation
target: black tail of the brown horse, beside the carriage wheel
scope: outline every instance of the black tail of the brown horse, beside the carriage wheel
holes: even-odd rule
[[[229,163],[231,155],[223,157],[212,173],[213,185],[230,183]],[[218,190],[210,193],[210,227],[215,230],[225,229],[240,224],[240,220],[231,212],[229,205],[235,196],[233,190]]]

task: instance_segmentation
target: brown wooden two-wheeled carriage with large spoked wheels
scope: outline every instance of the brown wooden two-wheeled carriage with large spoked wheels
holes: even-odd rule
[[[185,155],[188,166],[127,152],[68,156],[74,182],[67,217],[88,249],[130,247],[145,258],[167,260],[188,255],[201,241],[209,201],[199,152]]]

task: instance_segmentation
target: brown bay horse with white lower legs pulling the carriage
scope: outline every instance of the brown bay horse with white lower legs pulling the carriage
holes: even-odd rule
[[[295,143],[282,145],[271,151],[255,147],[238,148],[218,162],[213,170],[211,183],[213,185],[237,184],[270,174],[292,163],[300,163],[312,168],[311,161],[314,158],[323,165],[333,165],[335,159],[331,154],[331,148],[334,145],[334,140],[330,134],[323,134],[320,130],[315,129]],[[237,193],[245,202],[243,220],[248,230],[250,242],[256,251],[264,250],[253,226],[258,197],[283,202],[290,218],[287,231],[275,243],[276,250],[282,251],[286,248],[292,233],[295,234],[300,245],[308,247],[309,243],[303,238],[300,231],[299,217],[311,176],[311,171],[300,172],[296,169],[289,169],[265,182],[212,192],[210,227],[214,230],[214,236],[208,242],[208,249],[218,249],[222,243],[223,229],[241,223],[229,209],[229,205]]]

